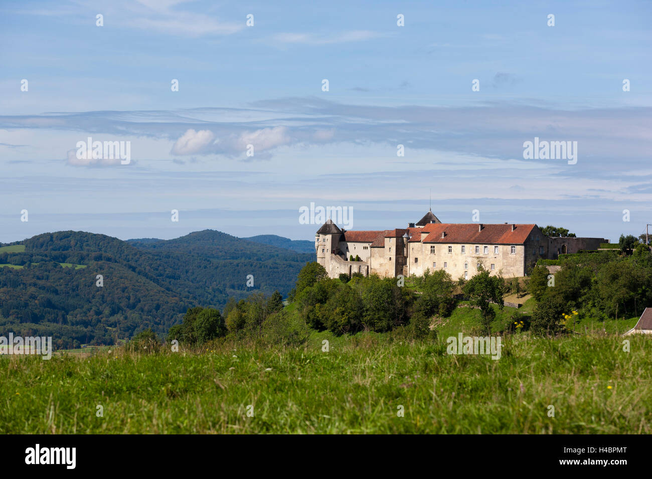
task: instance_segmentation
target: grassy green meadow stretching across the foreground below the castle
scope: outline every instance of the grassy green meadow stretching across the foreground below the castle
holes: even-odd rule
[[[522,332],[498,360],[448,355],[474,318],[458,308],[431,340],[312,331],[294,347],[0,356],[0,433],[652,433],[652,338]]]

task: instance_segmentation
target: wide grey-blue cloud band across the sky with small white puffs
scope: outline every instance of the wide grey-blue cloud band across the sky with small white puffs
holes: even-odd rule
[[[146,137],[170,141],[171,154],[222,154],[266,160],[279,147],[350,143],[384,145],[396,151],[451,151],[523,160],[523,143],[578,141],[586,175],[600,164],[627,161],[646,167],[652,133],[644,124],[652,108],[564,109],[520,103],[479,106],[366,106],[318,97],[254,102],[252,108],[198,108],[178,111],[89,111],[0,116],[0,128],[73,130],[89,134]],[[255,156],[246,149],[253,145]],[[265,153],[265,154],[263,154]],[[406,155],[409,158],[409,155]],[[551,160],[552,161],[552,160]],[[546,162],[542,162],[546,163]],[[626,171],[626,170],[625,170]]]

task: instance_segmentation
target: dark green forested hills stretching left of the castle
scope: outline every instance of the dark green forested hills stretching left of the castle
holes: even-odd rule
[[[213,230],[128,241],[57,231],[21,244],[0,248],[0,336],[52,336],[58,347],[113,343],[149,327],[163,335],[188,308],[221,310],[229,296],[286,296],[315,257]]]

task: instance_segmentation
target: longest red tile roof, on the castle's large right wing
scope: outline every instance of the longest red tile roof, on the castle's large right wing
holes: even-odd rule
[[[484,244],[523,244],[534,224],[517,224],[512,231],[511,224],[482,224],[479,230],[479,223],[452,224],[452,223],[430,223],[422,228],[428,232],[424,237],[424,243],[484,243]],[[442,238],[441,233],[446,233]],[[419,242],[421,235],[414,232],[410,242]]]

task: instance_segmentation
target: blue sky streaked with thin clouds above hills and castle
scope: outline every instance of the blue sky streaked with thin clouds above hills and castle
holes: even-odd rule
[[[389,229],[419,220],[431,191],[443,222],[477,209],[638,235],[652,223],[651,21],[649,1],[3,3],[0,241],[314,239],[299,223],[311,202]],[[89,136],[130,141],[130,164],[76,161]],[[535,137],[577,141],[578,161],[525,160]]]

